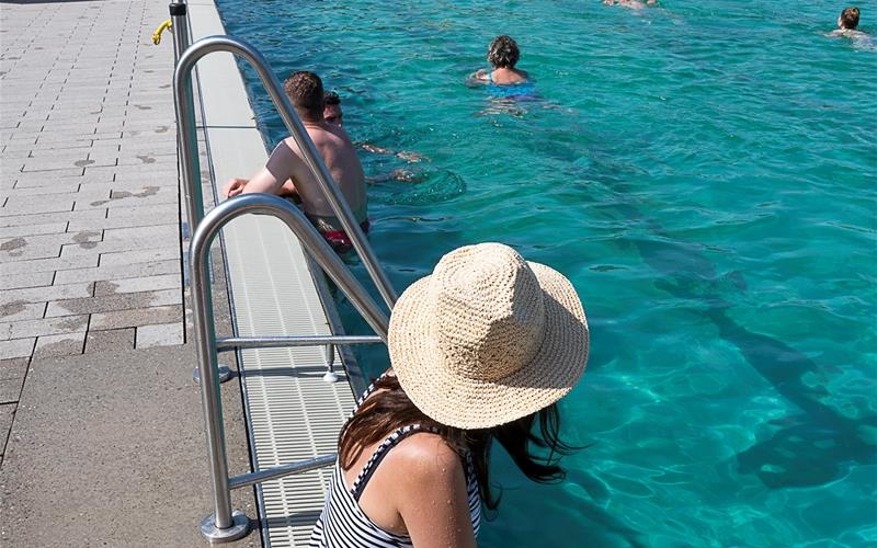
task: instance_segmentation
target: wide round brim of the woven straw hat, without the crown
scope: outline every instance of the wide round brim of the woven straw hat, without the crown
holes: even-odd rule
[[[528,263],[544,292],[545,331],[535,357],[496,381],[456,375],[441,366],[430,334],[430,276],[414,282],[390,317],[389,353],[408,397],[431,419],[458,429],[512,422],[566,396],[584,372],[589,331],[581,300],[562,274]]]

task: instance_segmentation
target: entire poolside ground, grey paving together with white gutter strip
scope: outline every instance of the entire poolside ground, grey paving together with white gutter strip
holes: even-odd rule
[[[224,33],[212,0],[189,12],[195,38]],[[0,16],[0,546],[204,545],[197,525],[212,509],[181,267],[173,44],[151,43],[167,4],[22,0]],[[198,62],[196,82],[208,210],[215,181],[252,172],[266,151],[230,54]],[[217,333],[231,332],[230,309],[243,336],[332,331],[321,275],[285,227],[246,216],[223,235],[224,253],[218,241],[212,253]],[[229,471],[332,453],[353,395],[321,380],[323,350],[240,358],[240,383],[221,389]],[[235,545],[300,546],[329,473],[234,491],[254,530]]]

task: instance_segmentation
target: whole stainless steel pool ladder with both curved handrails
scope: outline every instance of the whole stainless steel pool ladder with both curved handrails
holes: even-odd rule
[[[183,8],[181,9],[180,5]],[[174,7],[176,7],[174,9]],[[250,44],[231,36],[208,36],[187,45],[185,31],[185,4],[175,1],[171,4],[174,21],[174,52],[176,65],[173,75],[174,106],[179,128],[178,146],[181,163],[181,180],[185,197],[186,215],[193,230],[190,242],[190,275],[192,283],[192,308],[197,349],[197,377],[201,386],[202,406],[207,436],[210,488],[214,513],[201,523],[201,532],[210,544],[230,543],[250,533],[250,521],[246,514],[231,509],[231,490],[254,486],[293,473],[305,472],[335,460],[335,455],[323,455],[266,470],[228,476],[225,432],[223,429],[223,407],[219,396],[220,377],[217,352],[232,349],[267,349],[286,346],[326,345],[330,351],[334,345],[386,343],[389,320],[387,315],[372,299],[365,288],[351,274],[335,252],[317,232],[305,215],[288,202],[267,194],[244,194],[228,199],[206,216],[203,212],[201,192],[201,167],[195,133],[195,107],[192,94],[192,69],[204,56],[214,52],[227,52],[243,58],[255,70],[271,100],[283,118],[286,128],[303,152],[304,160],[314,172],[321,192],[328,198],[344,231],[350,235],[353,248],[377,286],[384,301],[391,310],[397,294],[380,269],[374,251],[365,239],[350,206],[335,185],[332,175],[320,158],[304,125],[295,113],[288,98],[283,93],[280,81],[270,70],[265,58]],[[179,24],[179,26],[176,26]],[[219,230],[232,219],[247,214],[261,214],[277,217],[298,237],[301,247],[322,267],[338,287],[346,294],[356,310],[374,329],[376,335],[327,335],[327,336],[251,336],[216,339],[213,301],[209,286],[209,249]],[[332,376],[332,363],[328,362],[326,378]]]

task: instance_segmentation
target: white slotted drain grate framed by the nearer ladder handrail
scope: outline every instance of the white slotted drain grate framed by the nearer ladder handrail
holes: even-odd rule
[[[330,333],[304,251],[286,225],[247,215],[224,235],[239,335]],[[340,380],[329,384],[323,347],[241,352],[254,470],[335,452],[354,398],[340,357],[334,365]],[[265,546],[307,545],[330,476],[323,468],[259,488]]]

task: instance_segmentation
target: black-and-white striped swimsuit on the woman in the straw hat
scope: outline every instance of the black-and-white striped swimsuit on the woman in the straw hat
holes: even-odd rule
[[[374,391],[374,385],[368,387],[368,390],[360,398],[356,403],[357,409],[372,391]],[[372,455],[372,458],[368,459],[365,468],[356,477],[356,481],[350,490],[344,486],[344,471],[341,469],[341,465],[335,461],[326,505],[322,509],[320,518],[314,526],[308,546],[312,548],[413,547],[411,537],[408,535],[397,535],[375,525],[362,511],[358,501],[368,479],[387,453],[399,442],[418,432],[431,432],[431,430],[421,427],[420,424],[411,424],[397,430],[387,437],[375,450],[375,454]],[[471,456],[468,453],[466,454],[465,468],[469,515],[472,520],[475,535],[478,536],[478,528],[481,522],[481,500],[478,494],[478,480],[475,476]]]

